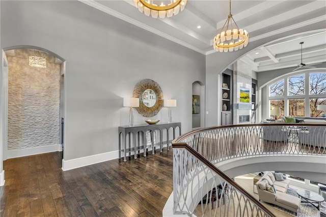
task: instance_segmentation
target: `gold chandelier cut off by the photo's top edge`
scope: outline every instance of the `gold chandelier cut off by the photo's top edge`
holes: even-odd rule
[[[171,0],[168,5],[163,4],[160,5],[154,4],[153,0],[133,0],[134,5],[138,8],[138,10],[146,15],[151,15],[153,18],[165,18],[172,17],[172,15],[177,15],[179,11],[183,11],[187,0]]]

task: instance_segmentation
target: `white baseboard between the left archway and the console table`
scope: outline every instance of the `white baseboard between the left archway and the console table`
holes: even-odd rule
[[[62,160],[62,170],[72,170],[79,167],[85,167],[99,162],[117,159],[119,157],[119,151],[105,152],[101,154],[95,154],[86,157],[79,157],[71,160]]]

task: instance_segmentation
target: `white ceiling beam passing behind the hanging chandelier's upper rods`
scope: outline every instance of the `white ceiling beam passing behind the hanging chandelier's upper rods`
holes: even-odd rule
[[[241,20],[241,19],[244,19],[244,18],[248,17],[248,14],[260,13],[262,11],[268,10],[268,8],[274,7],[274,6],[276,6],[278,4],[281,4],[281,3],[282,3],[282,1],[264,1],[264,2],[254,6],[252,8],[244,10],[244,11],[238,13],[238,14],[232,14],[232,15],[233,15],[235,21],[238,21],[238,20]],[[232,10],[232,8],[231,8],[231,10]],[[225,15],[225,20],[222,20],[222,21],[216,23],[216,29],[219,30],[219,29],[221,29],[223,27],[223,25],[224,25],[224,23],[225,23],[225,21],[227,19],[227,15],[228,14]]]

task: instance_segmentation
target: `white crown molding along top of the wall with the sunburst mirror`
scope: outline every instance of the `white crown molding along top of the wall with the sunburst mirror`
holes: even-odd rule
[[[174,38],[174,37],[172,37],[172,36],[170,36],[170,35],[168,35],[166,33],[163,33],[161,31],[158,31],[158,30],[152,28],[149,25],[146,25],[146,24],[144,24],[144,23],[142,23],[142,22],[140,22],[138,20],[132,19],[132,18],[130,18],[130,17],[128,17],[128,16],[120,13],[120,12],[117,12],[115,10],[112,10],[111,8],[108,8],[108,7],[106,7],[106,6],[104,6],[104,5],[100,4],[100,3],[97,3],[94,0],[78,0],[78,1],[81,2],[81,3],[84,3],[84,4],[88,5],[88,6],[91,6],[91,7],[95,8],[95,9],[98,9],[98,10],[100,10],[100,11],[106,13],[106,14],[110,14],[110,15],[112,15],[114,17],[117,17],[117,18],[119,18],[121,20],[124,20],[126,22],[129,22],[129,23],[131,23],[131,24],[133,24],[135,26],[138,26],[139,28],[142,28],[144,30],[147,30],[147,31],[149,31],[151,33],[154,33],[154,34],[156,34],[158,36],[161,36],[163,38],[166,38],[166,39],[168,39],[170,41],[173,41],[173,42],[175,42],[177,44],[180,44],[180,45],[182,45],[184,47],[187,47],[189,49],[195,50],[195,51],[197,51],[197,52],[202,53],[203,55],[205,55],[205,51],[202,50],[202,49],[199,49],[199,48],[197,48],[197,47],[195,47],[195,46],[193,46],[191,44],[185,43],[185,42],[183,42],[183,41],[181,41],[181,40],[179,40],[177,38]]]

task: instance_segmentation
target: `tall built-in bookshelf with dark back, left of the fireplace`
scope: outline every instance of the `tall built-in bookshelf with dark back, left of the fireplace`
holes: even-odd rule
[[[232,71],[222,73],[222,122],[221,125],[232,124]]]

